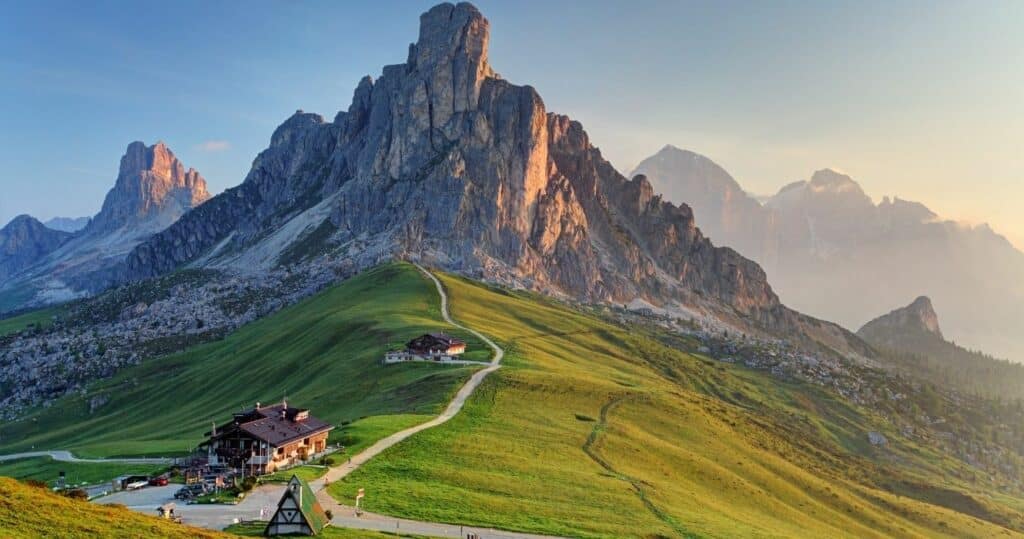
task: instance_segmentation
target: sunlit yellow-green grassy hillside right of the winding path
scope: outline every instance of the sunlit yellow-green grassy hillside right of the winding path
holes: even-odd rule
[[[816,388],[543,298],[444,284],[454,316],[496,337],[507,365],[463,414],[332,485],[343,502],[365,488],[370,510],[580,537],[995,537],[1016,535],[995,523],[1021,526],[977,493],[928,503],[883,488],[915,469],[941,482],[955,464],[923,448],[868,458],[864,434],[885,425]]]

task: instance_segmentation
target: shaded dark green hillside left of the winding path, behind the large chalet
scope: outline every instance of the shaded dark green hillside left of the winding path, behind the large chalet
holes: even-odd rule
[[[354,421],[333,436],[366,445],[369,438],[438,412],[472,372],[470,367],[380,365],[391,345],[426,331],[452,331],[439,320],[437,293],[416,268],[380,267],[223,340],[126,369],[87,395],[0,425],[0,452],[183,453],[203,440],[211,421],[285,396],[336,425]],[[454,333],[475,350],[469,356],[487,358],[481,342]],[[110,401],[90,414],[88,403],[96,396]],[[358,421],[367,416],[382,417]]]

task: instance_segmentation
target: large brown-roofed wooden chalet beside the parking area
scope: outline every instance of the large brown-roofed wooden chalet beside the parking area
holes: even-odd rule
[[[334,425],[309,415],[309,410],[288,406],[287,401],[256,406],[207,432],[208,465],[238,468],[261,475],[323,452]]]

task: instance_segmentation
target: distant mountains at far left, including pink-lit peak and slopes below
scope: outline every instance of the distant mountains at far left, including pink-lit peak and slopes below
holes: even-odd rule
[[[102,209],[75,232],[22,215],[0,230],[0,312],[63,301],[118,282],[125,256],[210,198],[163,142],[128,146]],[[54,219],[73,227],[82,219]]]

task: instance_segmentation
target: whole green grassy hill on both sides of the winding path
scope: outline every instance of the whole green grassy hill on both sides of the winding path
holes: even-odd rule
[[[411,519],[572,537],[1011,537],[1024,502],[819,388],[691,356],[550,299],[443,276],[453,315],[507,355],[457,417],[330,489]],[[443,327],[408,264],[378,267],[226,339],[127,369],[0,426],[0,452],[182,451],[254,401],[289,401],[353,448],[438,412],[468,368],[383,367]],[[458,332],[457,332],[458,333]],[[486,357],[481,342],[461,334]],[[88,414],[88,400],[111,401]],[[362,419],[359,419],[362,418]],[[899,485],[899,488],[894,488]],[[897,494],[898,493],[898,494]],[[970,512],[970,514],[968,514]]]

